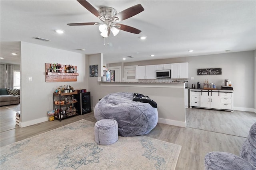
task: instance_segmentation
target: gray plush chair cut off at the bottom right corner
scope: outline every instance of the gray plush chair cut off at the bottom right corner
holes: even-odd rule
[[[204,157],[205,170],[256,170],[256,123],[252,125],[240,155],[209,152]]]

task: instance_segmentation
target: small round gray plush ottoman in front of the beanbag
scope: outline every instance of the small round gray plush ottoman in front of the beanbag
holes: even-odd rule
[[[118,124],[113,119],[102,119],[94,125],[95,141],[99,145],[111,145],[118,141]]]

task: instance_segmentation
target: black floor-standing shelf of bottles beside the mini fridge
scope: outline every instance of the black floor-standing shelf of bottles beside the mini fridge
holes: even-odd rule
[[[54,99],[54,117],[56,119],[59,119],[60,121],[62,119],[72,117],[74,115],[78,116],[78,110],[74,106],[75,103],[77,103],[76,98],[74,95],[77,94],[77,91],[70,92],[70,93],[59,93],[59,91],[53,94]]]

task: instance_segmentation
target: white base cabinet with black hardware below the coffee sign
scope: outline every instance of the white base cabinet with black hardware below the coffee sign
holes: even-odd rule
[[[233,109],[233,90],[200,90],[190,89],[190,108]]]

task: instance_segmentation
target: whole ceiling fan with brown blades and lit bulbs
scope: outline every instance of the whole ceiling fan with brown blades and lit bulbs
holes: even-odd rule
[[[84,8],[86,8],[89,12],[98,17],[102,23],[99,22],[83,22],[83,23],[67,23],[70,26],[77,25],[99,25],[99,30],[101,32],[100,35],[102,37],[108,37],[110,35],[110,31],[116,36],[119,30],[127,31],[130,33],[139,34],[141,31],[134,27],[130,27],[128,25],[124,25],[118,23],[119,21],[126,20],[139,14],[144,11],[144,8],[141,4],[134,5],[122,12],[117,13],[114,8],[111,7],[102,7],[99,10],[96,10],[88,1],[86,0],[77,0]]]

